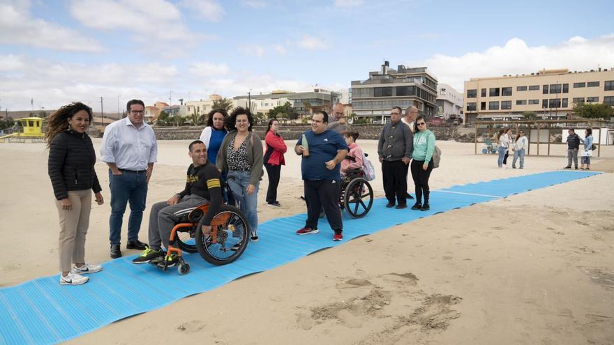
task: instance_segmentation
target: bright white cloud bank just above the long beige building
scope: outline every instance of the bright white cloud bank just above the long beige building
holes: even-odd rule
[[[614,68],[614,35],[586,39],[579,36],[553,46],[529,47],[520,38],[503,46],[461,56],[435,54],[424,61],[410,61],[407,66],[427,66],[439,82],[463,90],[464,81],[477,77],[530,74],[541,69],[568,68],[591,70],[597,66]]]

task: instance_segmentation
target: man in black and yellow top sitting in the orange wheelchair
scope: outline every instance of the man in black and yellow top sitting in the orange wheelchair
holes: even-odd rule
[[[190,213],[193,208],[209,204],[202,222],[203,232],[211,230],[211,219],[222,205],[222,189],[220,171],[207,160],[207,147],[200,140],[190,143],[189,153],[192,164],[188,167],[186,187],[174,194],[167,201],[160,201],[151,206],[149,214],[149,247],[133,263],[158,263],[158,266],[172,267],[177,265],[177,254],[165,256],[161,245],[169,246],[172,228],[181,218]],[[166,258],[166,263],[163,261]]]

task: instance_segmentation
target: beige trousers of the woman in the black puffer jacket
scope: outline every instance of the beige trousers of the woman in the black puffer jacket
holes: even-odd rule
[[[85,262],[85,235],[89,227],[91,190],[69,191],[68,199],[73,204],[70,210],[63,210],[61,202],[55,201],[60,220],[58,253],[61,272],[70,271],[73,262]]]

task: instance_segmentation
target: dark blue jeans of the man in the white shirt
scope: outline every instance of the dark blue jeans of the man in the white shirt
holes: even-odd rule
[[[147,199],[147,177],[145,172],[122,171],[121,175],[113,175],[109,170],[109,186],[111,190],[111,217],[109,218],[109,241],[112,245],[121,243],[121,224],[126,204],[130,203],[130,218],[128,218],[128,240],[138,240],[145,199]]]

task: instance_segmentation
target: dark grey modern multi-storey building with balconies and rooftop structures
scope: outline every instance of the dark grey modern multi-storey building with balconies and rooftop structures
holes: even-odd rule
[[[426,67],[391,69],[384,61],[366,80],[352,81],[352,108],[357,116],[387,121],[392,107],[415,105],[427,118],[437,114],[437,78]]]

